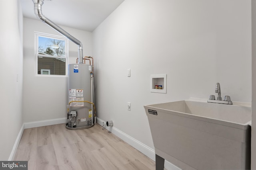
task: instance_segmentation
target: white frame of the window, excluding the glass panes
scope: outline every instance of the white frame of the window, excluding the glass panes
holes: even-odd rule
[[[51,55],[44,55],[44,54],[38,54],[38,37],[47,37],[52,39],[60,39],[65,41],[65,57],[58,57],[58,56],[51,56]],[[67,77],[68,76],[68,39],[63,36],[58,35],[52,35],[48,33],[40,33],[40,32],[34,32],[34,38],[35,38],[35,54],[36,54],[36,64],[35,64],[35,74],[36,76],[47,76],[47,77]],[[59,59],[66,59],[66,75],[54,75],[54,74],[38,74],[38,57],[51,57],[51,58],[59,58]]]

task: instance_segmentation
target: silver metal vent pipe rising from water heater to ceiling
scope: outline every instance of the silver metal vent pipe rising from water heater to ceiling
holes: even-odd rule
[[[50,27],[58,31],[60,34],[67,37],[70,41],[72,41],[76,45],[78,45],[78,64],[82,64],[83,63],[83,45],[81,41],[79,41],[78,39],[70,35],[68,32],[66,32],[64,29],[56,25],[54,22],[52,22],[42,14],[42,5],[44,4],[44,0],[32,0],[32,1],[34,2],[34,12],[40,20],[42,20],[47,25],[49,25]]]

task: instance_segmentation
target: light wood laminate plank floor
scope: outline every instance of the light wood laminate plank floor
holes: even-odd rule
[[[153,160],[97,123],[24,129],[15,160],[28,160],[28,170],[155,170]]]

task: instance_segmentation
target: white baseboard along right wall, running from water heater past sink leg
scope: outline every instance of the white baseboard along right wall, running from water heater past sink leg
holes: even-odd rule
[[[98,123],[99,125],[102,126],[102,122],[104,122],[104,128],[105,129],[107,129],[108,131],[110,131],[111,133],[113,133],[114,135],[116,135],[117,137],[119,137],[120,139],[122,139],[123,141],[125,141],[126,143],[128,143],[129,145],[134,147],[135,149],[139,150],[144,155],[148,156],[148,158],[156,161],[156,156],[155,156],[155,150],[154,149],[144,145],[140,141],[134,139],[133,137],[130,137],[126,133],[123,133],[119,129],[116,129],[114,126],[113,127],[108,127],[106,125],[105,121],[96,117],[96,123]],[[175,165],[173,165],[172,163],[170,163],[166,160],[164,161],[164,168],[166,168],[167,170],[180,170],[180,168],[176,167]]]

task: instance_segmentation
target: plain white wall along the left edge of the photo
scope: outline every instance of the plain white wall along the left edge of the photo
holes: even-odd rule
[[[23,28],[18,0],[0,1],[0,22],[0,160],[8,160],[23,125]]]

